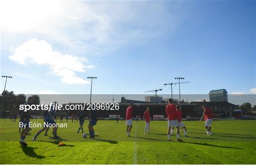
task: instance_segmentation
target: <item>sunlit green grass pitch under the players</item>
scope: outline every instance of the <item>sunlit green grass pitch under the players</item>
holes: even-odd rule
[[[41,119],[31,122],[42,122]],[[213,121],[213,136],[203,132],[204,122],[183,122],[189,137],[184,142],[167,141],[167,122],[152,121],[151,134],[144,134],[144,121],[133,121],[131,135],[126,137],[125,121],[98,121],[94,140],[76,133],[79,123],[68,122],[59,128],[60,141],[44,132],[37,141],[27,136],[27,147],[18,143],[18,122],[0,120],[0,164],[256,164],[256,121]],[[84,130],[88,133],[87,123]]]

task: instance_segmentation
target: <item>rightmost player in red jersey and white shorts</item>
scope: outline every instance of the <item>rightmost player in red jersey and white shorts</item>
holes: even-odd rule
[[[202,115],[199,123],[201,122],[202,118],[204,117],[206,133],[207,133],[207,135],[212,135],[211,134],[211,123],[212,123],[211,110],[205,104],[202,105],[202,108],[204,111],[203,111],[203,115]]]

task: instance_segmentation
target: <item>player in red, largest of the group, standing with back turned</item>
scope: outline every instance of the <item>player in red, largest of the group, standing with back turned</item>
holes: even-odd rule
[[[177,140],[183,141],[180,139],[178,117],[177,117],[176,107],[173,104],[173,99],[169,99],[169,104],[165,107],[165,113],[168,117],[168,131],[167,131],[168,140],[171,141],[171,128],[172,126],[174,126],[176,127],[176,131],[177,131]]]

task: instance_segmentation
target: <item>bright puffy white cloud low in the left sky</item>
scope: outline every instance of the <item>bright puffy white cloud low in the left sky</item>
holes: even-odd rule
[[[60,52],[54,51],[52,46],[44,40],[31,39],[13,49],[13,53],[9,58],[19,64],[26,65],[29,61],[37,65],[49,66],[51,74],[62,77],[61,82],[68,84],[90,83],[77,77],[75,72],[84,72],[84,68],[94,66],[84,66],[79,58],[69,54],[62,55]]]

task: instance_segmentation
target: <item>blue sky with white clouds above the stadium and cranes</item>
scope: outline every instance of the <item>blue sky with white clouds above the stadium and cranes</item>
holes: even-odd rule
[[[181,76],[183,94],[256,92],[255,1],[0,3],[9,91],[89,94],[97,76],[95,94],[169,94]]]

